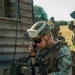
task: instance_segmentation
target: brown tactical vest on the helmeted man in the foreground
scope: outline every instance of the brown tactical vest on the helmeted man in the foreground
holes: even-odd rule
[[[44,59],[43,64],[46,66],[47,72],[57,72],[59,71],[57,67],[57,60],[55,59],[55,53],[58,51],[59,47],[56,47],[55,50],[52,50]]]

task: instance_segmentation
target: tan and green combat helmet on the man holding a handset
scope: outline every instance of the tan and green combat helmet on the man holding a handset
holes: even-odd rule
[[[51,27],[45,21],[36,22],[30,29],[27,30],[27,38],[35,39],[50,33]]]

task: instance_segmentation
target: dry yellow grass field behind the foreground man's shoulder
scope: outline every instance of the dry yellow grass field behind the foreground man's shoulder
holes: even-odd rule
[[[75,51],[75,45],[72,44],[72,31],[68,29],[68,26],[60,26],[60,32],[65,37],[70,49]]]

